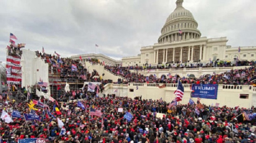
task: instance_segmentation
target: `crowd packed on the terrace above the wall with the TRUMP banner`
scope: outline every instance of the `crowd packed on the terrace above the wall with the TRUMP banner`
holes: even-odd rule
[[[128,82],[135,83],[177,83],[177,75],[162,75],[157,78],[155,74],[145,76],[143,74],[137,74],[135,72],[130,72],[129,67],[114,67],[114,66],[105,66],[110,72],[114,74],[119,74],[125,77]],[[187,76],[180,77],[182,83],[190,84],[234,84],[234,85],[251,85],[256,79],[256,67],[251,66],[245,69],[235,69],[226,71],[221,74],[207,74],[202,75],[199,78]],[[124,83],[127,81],[119,80],[118,83]]]

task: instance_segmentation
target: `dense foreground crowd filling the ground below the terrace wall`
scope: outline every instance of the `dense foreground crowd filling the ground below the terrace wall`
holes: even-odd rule
[[[0,111],[21,112],[21,118],[6,123],[0,119],[0,136],[3,143],[16,143],[18,139],[43,138],[51,143],[254,143],[255,119],[244,120],[242,113],[255,113],[251,108],[206,106],[197,110],[195,104],[170,106],[162,100],[136,97],[92,98],[70,102],[59,101],[59,111],[54,112],[56,102],[45,101],[44,109],[35,105],[40,120],[26,121],[24,113],[31,113],[28,102],[7,101],[3,96]],[[57,101],[58,102],[58,101]],[[81,103],[84,108],[81,107]],[[123,111],[118,110],[123,108]],[[38,110],[36,110],[38,109]],[[49,113],[45,111],[49,109]],[[92,115],[93,111],[102,115]],[[127,118],[127,113],[132,119]],[[62,132],[59,118],[64,123]]]

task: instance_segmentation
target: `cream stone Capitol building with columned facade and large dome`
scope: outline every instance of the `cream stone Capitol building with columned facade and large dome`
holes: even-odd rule
[[[176,8],[168,16],[161,29],[158,43],[153,46],[141,47],[141,53],[137,56],[123,57],[114,60],[102,54],[82,54],[71,56],[73,59],[84,60],[97,58],[107,65],[132,66],[143,64],[166,64],[166,63],[208,63],[209,60],[254,60],[256,46],[239,47],[227,46],[227,37],[211,38],[201,37],[197,29],[198,23],[193,14],[183,7],[183,0],[176,1]]]

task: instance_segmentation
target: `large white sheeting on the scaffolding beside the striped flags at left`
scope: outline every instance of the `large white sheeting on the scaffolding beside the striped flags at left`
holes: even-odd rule
[[[43,82],[48,83],[46,89],[48,93],[50,93],[48,63],[45,63],[41,57],[37,57],[36,52],[23,48],[20,64],[22,71],[22,87],[27,89],[27,86],[36,85],[41,79]]]

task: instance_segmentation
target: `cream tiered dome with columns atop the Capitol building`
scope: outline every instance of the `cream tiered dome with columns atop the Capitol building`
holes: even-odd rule
[[[197,29],[197,21],[182,4],[183,0],[176,1],[176,8],[166,19],[158,43],[200,38],[201,32]]]

